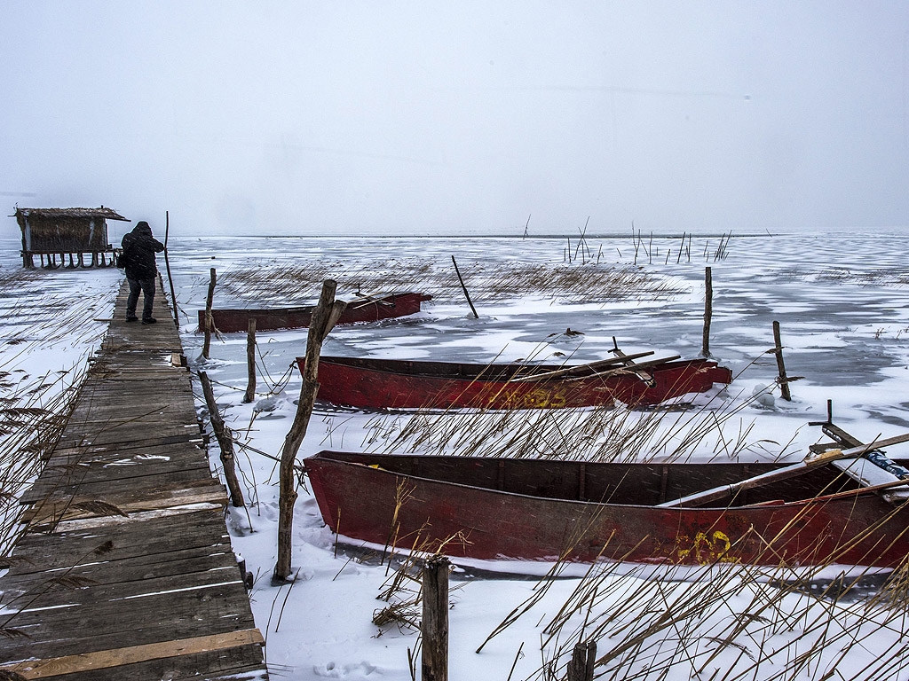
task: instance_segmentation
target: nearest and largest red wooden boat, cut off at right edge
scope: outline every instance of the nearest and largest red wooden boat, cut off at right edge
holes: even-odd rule
[[[627,464],[322,451],[305,459],[325,523],[346,538],[454,557],[894,567],[909,508],[830,465],[731,506],[658,508],[778,464]],[[824,495],[824,496],[818,496]]]

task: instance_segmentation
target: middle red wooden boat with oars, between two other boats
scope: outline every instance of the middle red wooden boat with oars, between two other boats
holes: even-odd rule
[[[658,404],[729,383],[710,360],[655,360],[623,366],[622,355],[593,364],[464,364],[439,361],[319,359],[319,400],[366,409],[533,409]],[[298,358],[303,370],[304,358]]]

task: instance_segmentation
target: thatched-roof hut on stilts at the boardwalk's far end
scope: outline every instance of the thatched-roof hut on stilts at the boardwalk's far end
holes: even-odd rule
[[[34,254],[79,256],[92,254],[93,264],[99,253],[111,252],[107,242],[107,220],[130,222],[110,208],[16,208],[15,219],[22,230],[22,264],[34,267]],[[42,257],[44,262],[44,257]],[[105,262],[101,258],[101,262]],[[106,263],[105,263],[106,264]]]

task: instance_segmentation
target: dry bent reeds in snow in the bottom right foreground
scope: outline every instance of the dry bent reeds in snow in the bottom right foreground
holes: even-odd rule
[[[774,557],[772,541],[764,539],[764,558]],[[713,561],[652,568],[609,558],[591,566],[555,614],[547,615],[553,603],[538,604],[553,584],[556,566],[487,641],[546,608],[542,617],[533,616],[540,617],[542,664],[527,679],[564,678],[578,642],[597,644],[598,678],[827,679],[847,655],[853,662],[861,656],[861,662],[854,676],[843,678],[883,681],[906,670],[905,563],[884,587],[856,595],[864,574],[833,580],[839,589],[804,589],[829,572],[830,563],[797,568],[780,561],[761,568]],[[864,641],[871,635],[878,645],[886,639],[889,649],[869,652]]]

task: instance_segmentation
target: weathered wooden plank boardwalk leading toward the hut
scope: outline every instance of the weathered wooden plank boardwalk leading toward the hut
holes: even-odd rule
[[[265,679],[225,490],[189,372],[171,362],[179,336],[160,288],[155,325],[125,322],[127,292],[22,499],[28,528],[0,578],[0,678]]]

